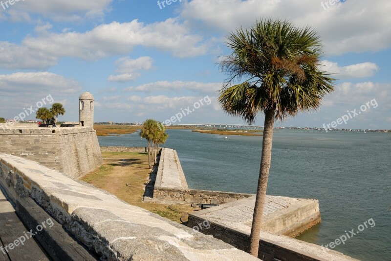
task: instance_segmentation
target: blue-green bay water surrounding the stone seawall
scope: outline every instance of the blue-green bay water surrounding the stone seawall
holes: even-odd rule
[[[225,141],[190,130],[167,133],[164,146],[177,151],[190,188],[256,192],[261,137]],[[137,133],[98,138],[102,146],[147,144]],[[322,223],[298,239],[326,245],[367,221],[368,228],[334,250],[363,261],[391,261],[390,145],[389,133],[276,131],[267,194],[319,200]]]

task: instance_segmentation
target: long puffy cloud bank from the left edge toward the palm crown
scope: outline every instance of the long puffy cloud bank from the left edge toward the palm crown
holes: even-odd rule
[[[206,54],[209,46],[202,36],[192,34],[175,19],[151,24],[138,20],[124,23],[114,21],[84,33],[48,33],[47,29],[48,26],[38,27],[37,30],[44,30],[45,34],[27,36],[21,45],[0,42],[0,57],[5,54],[5,58],[0,58],[0,67],[42,69],[55,65],[61,57],[94,61],[126,55],[135,46],[154,47],[179,58],[195,57]],[[148,67],[150,60],[142,58],[131,62]]]

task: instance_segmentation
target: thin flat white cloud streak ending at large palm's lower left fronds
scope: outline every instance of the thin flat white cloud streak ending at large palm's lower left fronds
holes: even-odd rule
[[[136,87],[127,87],[124,91],[157,92],[190,90],[198,93],[215,93],[222,86],[221,82],[197,82],[197,81],[156,81],[142,84]]]

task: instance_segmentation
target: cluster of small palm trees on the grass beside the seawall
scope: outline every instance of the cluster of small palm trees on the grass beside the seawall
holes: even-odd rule
[[[164,144],[168,139],[166,129],[157,120],[148,119],[143,122],[140,136],[148,141],[148,165],[152,168],[152,162],[156,164],[156,155],[159,144]],[[151,157],[152,156],[152,157]]]

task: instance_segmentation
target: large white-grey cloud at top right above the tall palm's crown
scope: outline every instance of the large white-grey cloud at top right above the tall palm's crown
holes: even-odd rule
[[[183,3],[181,18],[189,26],[223,33],[250,26],[261,18],[281,18],[310,25],[319,32],[326,55],[377,51],[391,46],[391,2],[345,1],[325,11],[314,0],[192,0]],[[218,14],[218,15],[216,15]]]

